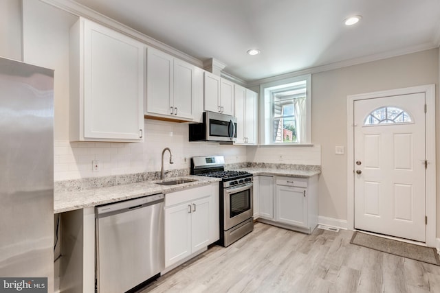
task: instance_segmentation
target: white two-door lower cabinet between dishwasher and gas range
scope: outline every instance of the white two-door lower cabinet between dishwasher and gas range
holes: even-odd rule
[[[165,195],[166,268],[219,239],[218,190],[216,183]]]

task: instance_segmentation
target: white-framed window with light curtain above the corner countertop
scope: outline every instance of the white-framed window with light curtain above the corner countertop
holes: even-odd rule
[[[265,145],[310,143],[311,75],[261,85]]]

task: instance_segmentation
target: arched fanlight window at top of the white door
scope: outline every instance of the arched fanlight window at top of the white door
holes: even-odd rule
[[[365,119],[364,125],[412,123],[411,116],[401,108],[386,106],[373,110]]]

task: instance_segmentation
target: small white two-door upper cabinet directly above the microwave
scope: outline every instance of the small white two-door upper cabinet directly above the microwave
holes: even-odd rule
[[[234,115],[234,83],[205,71],[205,110]]]

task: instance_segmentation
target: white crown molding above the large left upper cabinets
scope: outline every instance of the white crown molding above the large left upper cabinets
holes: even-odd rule
[[[91,21],[99,23],[100,25],[111,27],[112,30],[116,30],[122,34],[126,34],[148,46],[155,47],[156,49],[159,49],[161,51],[165,51],[166,53],[173,55],[177,58],[180,58],[182,60],[185,60],[186,62],[189,62],[197,67],[203,67],[203,62],[201,62],[201,60],[194,58],[182,51],[179,51],[169,45],[166,45],[165,43],[162,43],[159,40],[156,40],[155,38],[151,38],[149,36],[146,36],[145,34],[142,34],[141,32],[137,32],[137,30],[133,30],[131,27],[119,23],[118,21],[115,21],[114,19],[105,16],[104,14],[100,14],[99,12],[91,10],[90,8],[87,8],[86,6],[81,5],[80,3],[77,3],[72,0],[41,0],[41,1],[49,5],[52,5],[56,8],[59,8],[61,10],[64,10],[66,12],[69,12],[70,14],[74,14],[76,16],[83,16],[87,19],[90,19]]]

